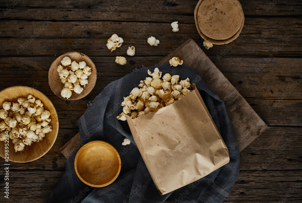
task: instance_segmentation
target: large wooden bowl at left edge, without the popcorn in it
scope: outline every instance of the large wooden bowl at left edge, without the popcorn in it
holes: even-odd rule
[[[50,125],[53,129],[53,131],[47,133],[42,141],[40,142],[34,142],[31,144],[31,146],[25,145],[24,150],[21,152],[15,152],[14,150],[14,144],[12,143],[12,140],[9,139],[9,156],[8,158],[5,157],[5,143],[0,141],[0,156],[2,158],[7,158],[9,161],[13,162],[29,162],[34,161],[40,157],[42,157],[44,154],[46,154],[50,148],[53,146],[53,144],[56,141],[56,137],[58,135],[59,131],[59,119],[58,115],[56,113],[56,109],[53,106],[53,103],[40,91],[26,87],[26,86],[14,86],[9,87],[0,92],[0,103],[2,109],[2,104],[5,101],[9,102],[17,102],[17,99],[19,97],[27,98],[29,94],[32,94],[36,99],[41,100],[41,102],[44,104],[45,110],[50,111]],[[3,119],[0,118],[0,122],[3,121]]]

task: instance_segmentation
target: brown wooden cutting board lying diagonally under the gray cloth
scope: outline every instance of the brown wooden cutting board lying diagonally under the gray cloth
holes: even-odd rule
[[[172,57],[179,57],[184,61],[183,65],[195,69],[201,78],[204,79],[224,101],[232,123],[239,152],[266,130],[267,125],[265,122],[226,77],[224,77],[222,72],[212,63],[193,39],[188,39],[160,63],[169,63]],[[201,66],[200,64],[203,65]],[[81,145],[80,134],[78,133],[69,140],[60,151],[67,158]]]

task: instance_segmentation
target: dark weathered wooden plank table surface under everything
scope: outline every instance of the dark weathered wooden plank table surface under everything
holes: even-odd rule
[[[0,26],[0,90],[25,85],[43,92],[56,107],[59,134],[52,149],[29,163],[11,162],[9,199],[4,198],[1,159],[0,201],[44,202],[59,183],[65,158],[59,149],[79,132],[87,104],[136,68],[159,63],[192,38],[266,122],[268,129],[241,153],[240,173],[224,202],[302,202],[302,1],[241,0],[242,35],[228,45],[202,47],[194,23],[197,0],[30,1],[4,0]],[[179,32],[170,24],[178,21]],[[122,47],[110,52],[116,33]],[[157,47],[146,42],[160,40]],[[135,46],[135,56],[126,54]],[[66,101],[50,90],[48,70],[59,55],[78,51],[96,65],[92,92]],[[125,56],[127,64],[114,62]],[[185,59],[184,59],[185,60]]]

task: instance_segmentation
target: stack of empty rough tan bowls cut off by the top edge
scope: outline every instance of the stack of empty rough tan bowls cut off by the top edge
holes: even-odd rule
[[[242,31],[244,14],[238,0],[200,0],[194,10],[200,36],[215,45],[232,42]]]

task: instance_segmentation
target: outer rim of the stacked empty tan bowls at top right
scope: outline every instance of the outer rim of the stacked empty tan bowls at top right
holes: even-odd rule
[[[204,39],[206,40],[207,42],[210,42],[214,45],[224,45],[224,44],[227,44],[227,43],[230,43],[232,42],[233,40],[235,40],[239,35],[240,35],[240,32],[242,31],[243,29],[243,25],[244,25],[244,13],[242,11],[242,14],[243,14],[243,20],[242,20],[242,24],[240,26],[240,29],[238,30],[238,32],[236,32],[235,35],[233,35],[232,37],[228,38],[228,39],[223,39],[223,40],[219,40],[219,39],[212,39],[212,38],[209,38],[207,37],[206,35],[204,35],[200,28],[199,28],[199,25],[198,25],[198,8],[199,6],[201,5],[201,2],[204,1],[204,0],[199,0],[199,2],[197,3],[196,7],[195,7],[195,10],[194,10],[194,19],[195,19],[195,25],[196,25],[196,28],[197,28],[197,31],[199,33],[199,35]],[[238,1],[239,2],[239,1]],[[239,2],[239,5],[241,6],[240,2]],[[241,9],[242,9],[242,6],[241,6]]]

